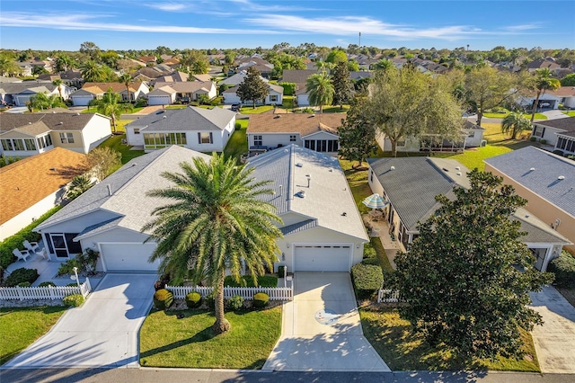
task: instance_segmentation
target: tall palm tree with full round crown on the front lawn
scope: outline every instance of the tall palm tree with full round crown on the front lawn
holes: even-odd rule
[[[234,158],[214,154],[208,163],[196,157],[180,166],[183,173],[162,174],[172,187],[147,193],[166,199],[142,228],[157,242],[150,261],[161,260],[160,271],[175,278],[207,280],[216,293],[212,328],[225,333],[231,328],[224,316],[226,270],[236,281],[243,264],[254,279],[262,275],[277,261],[281,219],[262,200],[272,194],[270,182],[255,181],[253,168],[238,167]]]

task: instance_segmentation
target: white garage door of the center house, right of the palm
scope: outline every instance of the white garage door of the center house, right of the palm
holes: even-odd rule
[[[296,272],[349,272],[350,245],[296,245]]]

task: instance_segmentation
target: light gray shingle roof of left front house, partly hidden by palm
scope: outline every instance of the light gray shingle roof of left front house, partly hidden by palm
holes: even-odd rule
[[[97,183],[68,203],[36,229],[42,230],[72,218],[101,211],[108,217],[101,222],[93,222],[89,227],[81,227],[81,236],[92,235],[110,227],[124,227],[139,232],[151,219],[153,209],[165,203],[163,199],[146,196],[146,191],[170,186],[172,183],[161,174],[166,171],[181,172],[180,164],[191,163],[193,157],[201,157],[206,161],[211,158],[178,146],[155,150],[134,158],[101,183]],[[111,195],[108,185],[111,188]]]

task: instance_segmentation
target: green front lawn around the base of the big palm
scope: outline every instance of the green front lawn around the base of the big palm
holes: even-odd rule
[[[182,319],[176,317],[183,314]],[[226,313],[232,330],[216,335],[212,313],[155,311],[140,330],[144,367],[261,369],[281,333],[281,308]]]

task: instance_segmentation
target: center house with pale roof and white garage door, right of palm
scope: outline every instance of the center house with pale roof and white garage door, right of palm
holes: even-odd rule
[[[349,272],[368,238],[341,166],[332,156],[289,145],[252,157],[257,180],[274,191],[263,197],[283,220],[279,265],[288,272]]]

